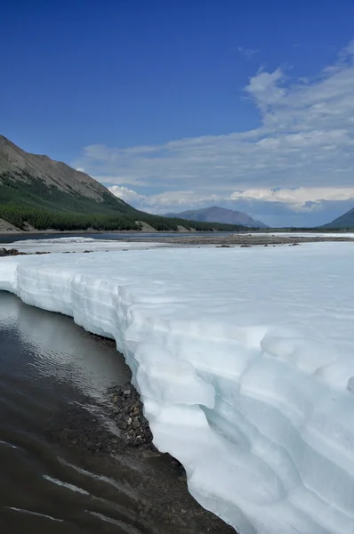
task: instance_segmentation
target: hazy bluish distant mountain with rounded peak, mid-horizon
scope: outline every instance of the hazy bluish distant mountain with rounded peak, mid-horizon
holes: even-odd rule
[[[169,213],[165,214],[165,217],[180,217],[188,221],[204,221],[207,223],[242,224],[251,228],[268,228],[266,224],[256,221],[248,214],[218,206],[190,209],[178,214]]]

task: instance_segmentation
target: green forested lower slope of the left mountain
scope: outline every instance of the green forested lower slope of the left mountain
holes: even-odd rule
[[[187,223],[146,214],[134,209],[107,192],[101,200],[84,197],[76,190],[60,190],[43,178],[27,171],[0,174],[0,218],[17,228],[26,223],[37,230],[141,230],[139,222],[148,223],[157,231],[177,231],[178,225],[197,231],[232,231],[240,227],[228,224]]]

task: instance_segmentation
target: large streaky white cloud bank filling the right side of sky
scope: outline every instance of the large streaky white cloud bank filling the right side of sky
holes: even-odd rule
[[[354,41],[312,80],[290,81],[280,68],[260,70],[245,87],[261,113],[261,125],[251,131],[128,149],[93,145],[84,148],[76,166],[127,188],[123,198],[130,195],[145,207],[169,199],[170,207],[184,209],[213,198],[263,195],[262,202],[301,211],[310,209],[306,203],[352,198],[353,60]],[[134,191],[141,187],[144,195]],[[149,188],[158,194],[146,194]]]

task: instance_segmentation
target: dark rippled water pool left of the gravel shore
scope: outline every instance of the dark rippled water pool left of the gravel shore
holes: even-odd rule
[[[94,495],[97,483],[78,476],[76,455],[48,441],[48,430],[58,421],[69,425],[73,409],[92,408],[108,386],[129,376],[113,343],[88,335],[68,317],[0,292],[1,531],[34,532],[49,524],[51,532],[97,531],[102,519],[93,515],[93,502],[105,502]],[[97,404],[96,418],[100,408]],[[124,490],[117,494],[126,500]],[[102,507],[108,505],[100,504],[98,514]],[[111,507],[114,516],[117,506]],[[130,531],[128,520],[120,531]]]

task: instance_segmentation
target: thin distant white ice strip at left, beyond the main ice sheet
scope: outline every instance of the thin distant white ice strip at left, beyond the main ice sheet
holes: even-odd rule
[[[0,248],[16,248],[28,254],[34,252],[110,252],[112,250],[168,247],[165,243],[149,243],[143,241],[118,241],[116,239],[93,238],[52,238],[52,239],[21,239],[13,243],[0,243]]]

